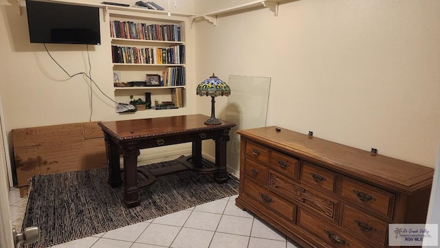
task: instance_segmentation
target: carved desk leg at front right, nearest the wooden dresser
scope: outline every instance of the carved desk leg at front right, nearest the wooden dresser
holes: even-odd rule
[[[221,135],[215,139],[215,166],[219,168],[214,173],[214,180],[217,183],[228,181],[228,172],[226,171],[226,144],[229,141],[230,128],[222,130]]]

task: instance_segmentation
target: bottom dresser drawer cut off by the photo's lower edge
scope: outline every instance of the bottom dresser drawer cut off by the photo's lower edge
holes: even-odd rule
[[[365,248],[368,245],[351,237],[346,232],[340,230],[336,225],[331,225],[317,218],[314,214],[301,208],[298,209],[298,225],[306,229],[311,234],[325,240],[328,247],[347,247],[347,248]]]

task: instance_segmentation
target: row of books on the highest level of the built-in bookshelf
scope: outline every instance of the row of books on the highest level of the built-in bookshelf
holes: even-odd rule
[[[180,27],[176,24],[147,25],[133,21],[111,21],[110,36],[149,41],[181,41]]]

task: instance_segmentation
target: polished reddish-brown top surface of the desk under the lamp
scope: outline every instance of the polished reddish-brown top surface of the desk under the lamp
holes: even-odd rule
[[[209,116],[206,115],[179,115],[139,120],[99,122],[98,125],[101,126],[104,133],[119,140],[221,130],[236,126],[234,123],[225,122],[223,120],[221,124],[218,125],[204,124],[203,122],[208,119]]]

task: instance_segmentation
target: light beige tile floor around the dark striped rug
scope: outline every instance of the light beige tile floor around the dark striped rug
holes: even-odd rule
[[[178,156],[177,156],[178,157]],[[170,156],[142,161],[153,164]],[[141,162],[140,162],[141,163]],[[285,235],[235,206],[236,196],[167,214],[148,221],[73,240],[52,248],[298,248]],[[27,198],[9,192],[12,225],[21,229]]]

